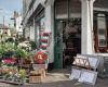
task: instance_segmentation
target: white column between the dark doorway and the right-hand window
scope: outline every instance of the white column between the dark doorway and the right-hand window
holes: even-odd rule
[[[93,54],[93,2],[94,0],[81,0],[81,53],[82,54]],[[91,7],[90,7],[91,5]]]

